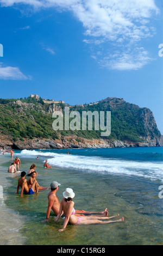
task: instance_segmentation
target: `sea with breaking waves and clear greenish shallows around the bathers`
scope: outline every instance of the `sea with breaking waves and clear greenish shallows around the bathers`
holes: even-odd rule
[[[20,197],[20,191],[16,193],[20,173],[7,172],[14,159],[1,154],[0,245],[163,245],[162,153],[162,147],[15,150],[21,172],[28,172],[34,163],[40,186],[61,184],[59,200],[70,187],[75,209],[108,208],[109,216],[124,217],[119,223],[68,224],[62,232],[58,229],[64,218],[55,223],[53,211],[49,222],[42,223],[50,190]],[[43,168],[46,159],[52,168]]]

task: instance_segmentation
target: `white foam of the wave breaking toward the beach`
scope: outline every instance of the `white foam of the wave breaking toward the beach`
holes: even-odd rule
[[[163,181],[161,162],[106,159],[101,156],[68,155],[52,152],[38,152],[36,150],[22,150],[21,155],[26,155],[26,157],[45,156],[51,166],[85,170],[89,172],[134,175],[146,179],[159,179]]]

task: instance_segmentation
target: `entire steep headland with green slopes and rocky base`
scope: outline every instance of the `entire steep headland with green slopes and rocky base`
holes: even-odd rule
[[[28,98],[27,98],[28,99]],[[108,97],[89,105],[69,106],[44,104],[28,100],[0,101],[0,147],[14,149],[108,148],[162,146],[162,136],[153,113],[122,98]],[[101,137],[101,131],[54,131],[52,113],[70,111],[110,111],[111,134]]]

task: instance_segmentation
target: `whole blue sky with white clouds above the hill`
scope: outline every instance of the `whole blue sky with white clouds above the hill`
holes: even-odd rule
[[[123,97],[163,134],[161,0],[0,0],[1,98]]]

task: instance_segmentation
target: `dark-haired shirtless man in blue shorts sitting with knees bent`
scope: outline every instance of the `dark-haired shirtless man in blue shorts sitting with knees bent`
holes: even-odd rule
[[[33,194],[34,191],[36,191],[36,193],[38,192],[37,181],[35,180],[31,188],[29,188],[25,177],[26,177],[26,172],[21,172],[21,178],[18,179],[17,194],[18,194],[19,188],[21,187],[21,197],[23,197],[23,192],[24,194]]]

